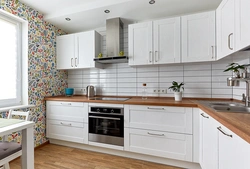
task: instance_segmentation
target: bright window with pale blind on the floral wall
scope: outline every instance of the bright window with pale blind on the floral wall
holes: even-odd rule
[[[0,13],[0,107],[22,104],[22,23]]]

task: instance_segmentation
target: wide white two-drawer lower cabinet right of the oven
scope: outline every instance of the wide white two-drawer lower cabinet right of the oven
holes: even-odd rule
[[[192,161],[192,108],[124,107],[124,149],[131,152]]]

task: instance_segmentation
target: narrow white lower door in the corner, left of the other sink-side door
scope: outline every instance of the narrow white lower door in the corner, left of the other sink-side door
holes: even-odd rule
[[[218,169],[218,130],[216,127],[217,122],[200,111],[200,164],[202,169]]]

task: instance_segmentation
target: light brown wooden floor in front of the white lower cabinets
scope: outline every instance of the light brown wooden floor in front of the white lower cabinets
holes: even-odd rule
[[[21,169],[20,158],[10,163]],[[35,150],[35,169],[180,169],[70,147],[47,144]]]

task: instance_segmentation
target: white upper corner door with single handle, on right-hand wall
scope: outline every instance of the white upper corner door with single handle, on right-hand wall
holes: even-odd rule
[[[217,59],[235,50],[235,0],[224,0],[216,10]]]

